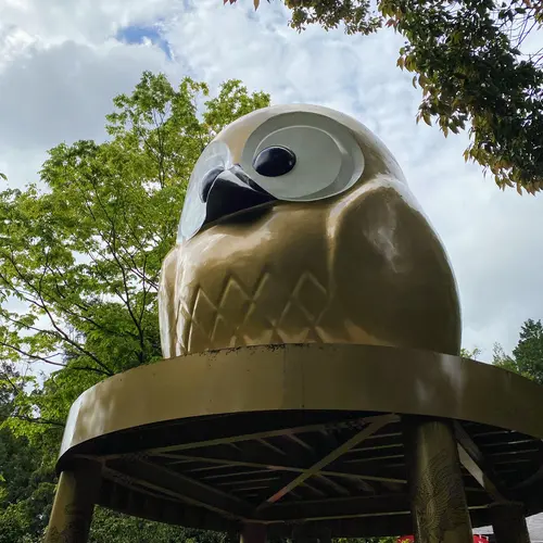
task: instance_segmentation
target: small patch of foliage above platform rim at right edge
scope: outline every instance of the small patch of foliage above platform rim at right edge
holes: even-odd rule
[[[505,353],[500,344],[494,345],[495,366],[515,371],[543,384],[543,325],[541,320],[528,319],[520,329],[520,338],[513,354]]]

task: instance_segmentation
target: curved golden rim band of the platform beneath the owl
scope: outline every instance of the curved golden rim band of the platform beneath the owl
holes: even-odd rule
[[[192,354],[111,377],[72,406],[61,456],[128,428],[289,409],[427,415],[543,439],[542,387],[505,369],[407,349],[287,344]]]

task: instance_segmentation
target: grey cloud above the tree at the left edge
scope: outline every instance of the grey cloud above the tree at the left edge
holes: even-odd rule
[[[65,139],[99,138],[111,98],[141,71],[164,66],[157,48],[110,40],[99,48],[65,41],[36,48],[0,79],[0,146],[43,149]]]

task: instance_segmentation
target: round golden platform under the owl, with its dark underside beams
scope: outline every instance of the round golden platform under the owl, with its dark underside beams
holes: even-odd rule
[[[280,345],[139,367],[73,405],[58,463],[103,465],[101,505],[269,536],[412,531],[402,415],[454,420],[473,526],[543,510],[543,387],[457,356]]]

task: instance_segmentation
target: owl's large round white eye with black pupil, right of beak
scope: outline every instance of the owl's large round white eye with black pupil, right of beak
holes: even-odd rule
[[[295,157],[293,167],[292,160],[289,167],[279,165],[275,172],[262,167],[266,155],[277,155],[278,149]],[[351,188],[364,171],[364,155],[345,126],[316,113],[293,112],[272,117],[254,130],[243,148],[241,167],[275,198],[307,202]]]

